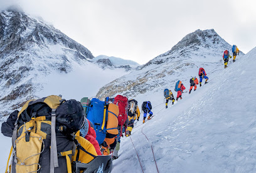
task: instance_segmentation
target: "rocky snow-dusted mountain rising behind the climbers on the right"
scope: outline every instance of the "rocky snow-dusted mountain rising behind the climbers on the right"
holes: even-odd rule
[[[147,91],[173,87],[178,80],[189,80],[205,67],[206,73],[222,64],[225,49],[232,46],[213,30],[197,30],[185,36],[170,51],[147,62],[141,69],[122,76],[102,87],[97,97],[117,93],[134,97]],[[243,53],[241,53],[243,54]]]

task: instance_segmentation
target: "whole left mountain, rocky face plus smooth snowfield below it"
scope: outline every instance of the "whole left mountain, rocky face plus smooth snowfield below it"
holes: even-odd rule
[[[78,100],[79,92],[95,96],[104,84],[126,74],[125,68],[102,71],[90,62],[93,55],[86,47],[17,11],[0,12],[0,57],[0,117],[49,93]]]

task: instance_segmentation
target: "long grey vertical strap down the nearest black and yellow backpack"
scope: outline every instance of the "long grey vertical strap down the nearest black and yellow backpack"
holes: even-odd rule
[[[56,109],[51,110],[51,156],[50,156],[50,172],[54,173],[54,168],[58,167],[58,154],[56,143]]]

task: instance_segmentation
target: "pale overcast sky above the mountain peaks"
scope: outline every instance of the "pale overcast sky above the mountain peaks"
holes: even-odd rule
[[[12,4],[41,16],[93,56],[145,64],[196,29],[215,29],[245,53],[256,46],[255,0],[0,0],[0,9]]]

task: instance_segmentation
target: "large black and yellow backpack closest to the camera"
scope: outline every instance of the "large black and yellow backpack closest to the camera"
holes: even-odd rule
[[[11,172],[70,172],[73,133],[84,121],[83,107],[75,100],[48,96],[26,102],[13,130]]]

